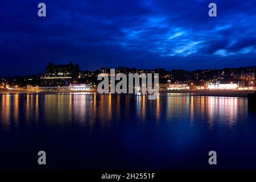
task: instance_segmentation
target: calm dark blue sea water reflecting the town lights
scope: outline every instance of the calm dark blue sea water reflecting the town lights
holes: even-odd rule
[[[234,97],[1,93],[0,169],[256,169],[256,113]]]

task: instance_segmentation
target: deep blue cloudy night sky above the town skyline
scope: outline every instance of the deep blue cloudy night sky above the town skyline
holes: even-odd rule
[[[217,17],[208,16],[210,2]],[[255,0],[3,0],[0,24],[0,76],[69,61],[82,70],[256,65]]]

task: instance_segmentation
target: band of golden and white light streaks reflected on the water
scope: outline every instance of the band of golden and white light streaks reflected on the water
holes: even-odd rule
[[[124,99],[122,99],[124,98]],[[121,100],[122,99],[122,100]],[[134,100],[135,102],[130,102]],[[135,108],[139,121],[146,122],[153,117],[155,122],[171,122],[183,118],[195,122],[207,122],[209,128],[214,125],[232,127],[246,118],[247,99],[236,97],[205,97],[177,96],[177,94],[160,94],[157,100],[148,100],[147,96],[121,96],[98,94],[1,94],[1,123],[9,129],[18,126],[20,117],[29,125],[39,122],[39,118],[49,125],[64,125],[77,123],[93,128],[100,122],[102,127],[111,126],[114,121],[129,118]],[[121,103],[122,102],[122,103]],[[135,103],[135,104],[134,104]],[[122,106],[121,106],[122,104]],[[125,112],[121,111],[123,109]],[[243,119],[240,121],[242,122]],[[88,124],[88,125],[87,125]]]

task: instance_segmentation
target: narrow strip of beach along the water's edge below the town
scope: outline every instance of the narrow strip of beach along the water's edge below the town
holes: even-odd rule
[[[0,93],[96,93],[94,90],[70,91],[70,90],[6,90],[0,89]],[[255,93],[255,90],[159,90],[159,93],[171,93],[191,96],[213,96],[213,97],[248,97],[248,94]]]

